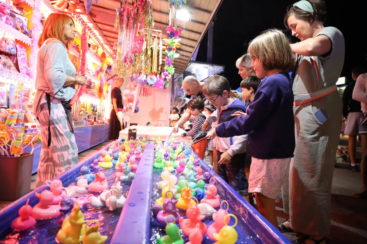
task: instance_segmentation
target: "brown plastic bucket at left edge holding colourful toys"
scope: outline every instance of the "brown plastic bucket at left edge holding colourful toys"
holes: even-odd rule
[[[30,152],[19,157],[0,156],[0,201],[15,201],[29,193],[33,156]]]

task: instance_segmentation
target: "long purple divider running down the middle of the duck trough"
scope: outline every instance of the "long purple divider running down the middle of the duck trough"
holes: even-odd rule
[[[154,145],[146,144],[111,244],[149,242]]]

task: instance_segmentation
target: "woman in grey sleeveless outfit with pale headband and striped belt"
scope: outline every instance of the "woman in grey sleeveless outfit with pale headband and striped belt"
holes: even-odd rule
[[[344,64],[344,37],[335,27],[324,27],[326,4],[302,0],[288,7],[286,27],[301,41],[293,75],[296,147],[289,185],[282,189],[284,212],[290,220],[282,232],[303,233],[300,243],[323,244],[330,232],[331,182],[339,142],[342,99],[335,83]]]

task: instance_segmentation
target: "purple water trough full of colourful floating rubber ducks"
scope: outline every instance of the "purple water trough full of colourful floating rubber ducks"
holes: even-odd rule
[[[113,141],[1,210],[0,240],[290,243],[186,144],[148,138]]]

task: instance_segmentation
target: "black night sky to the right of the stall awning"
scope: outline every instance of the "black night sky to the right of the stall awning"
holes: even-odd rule
[[[283,24],[288,5],[297,0],[223,0],[214,19],[212,63],[225,65],[222,73],[232,89],[237,89],[242,78],[236,60],[247,52],[248,43],[262,31]],[[364,3],[363,3],[364,2]],[[326,0],[325,26],[338,28],[345,38],[345,59],[341,77],[352,80],[351,70],[356,66],[367,68],[367,3],[364,0]],[[291,37],[291,31],[287,34]],[[196,61],[207,62],[208,33],[200,43]],[[364,37],[363,37],[364,36]],[[292,43],[300,41],[291,37]]]

